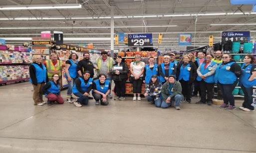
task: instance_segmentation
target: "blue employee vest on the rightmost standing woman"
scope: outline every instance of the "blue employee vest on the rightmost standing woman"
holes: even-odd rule
[[[246,64],[243,64],[242,66],[242,75],[239,79],[240,86],[243,84],[245,87],[252,87],[256,85],[256,79],[249,81],[248,79],[252,76],[251,70],[254,64],[250,64],[246,69],[243,69]]]

